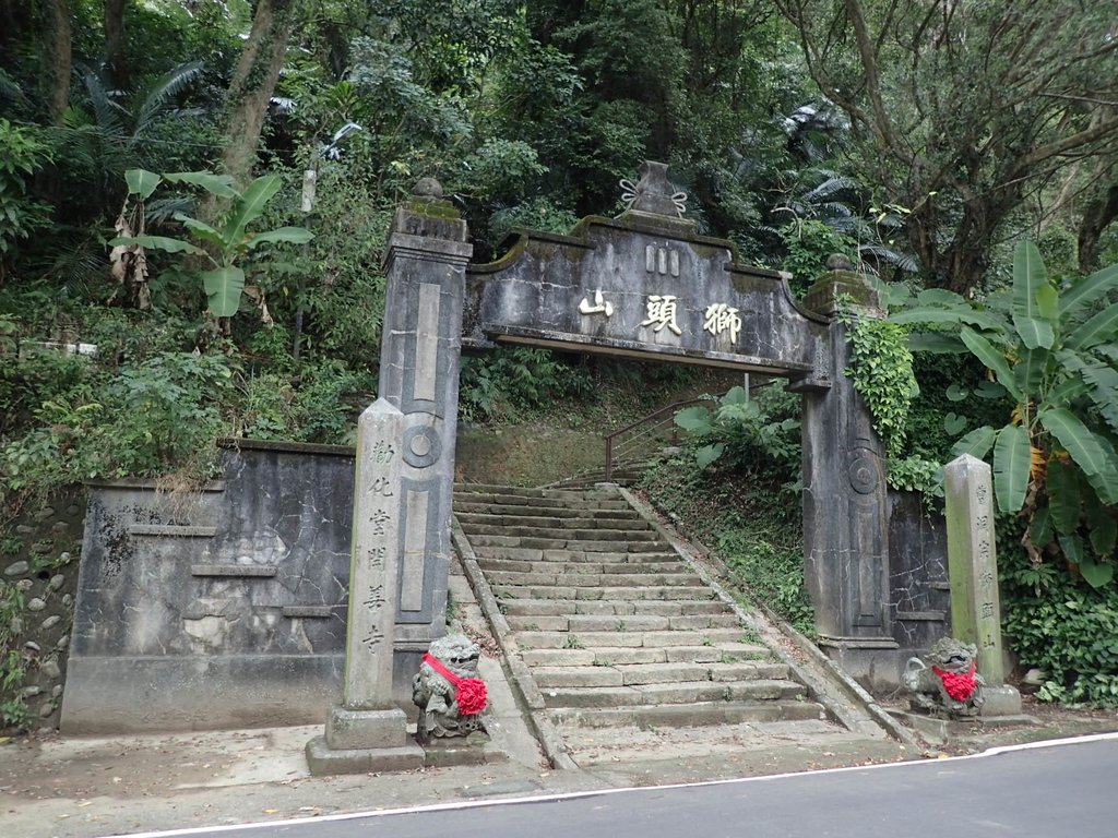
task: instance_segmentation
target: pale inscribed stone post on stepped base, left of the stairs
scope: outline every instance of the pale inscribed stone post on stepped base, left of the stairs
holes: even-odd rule
[[[306,746],[312,774],[419,768],[424,752],[392,699],[404,415],[378,399],[358,421],[342,703]]]

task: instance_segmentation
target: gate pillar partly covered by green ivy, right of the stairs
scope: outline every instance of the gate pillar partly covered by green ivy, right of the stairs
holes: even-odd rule
[[[849,267],[849,266],[847,266]],[[836,269],[807,293],[806,307],[831,317],[851,297],[859,317],[880,317],[877,295],[859,275]],[[885,460],[870,411],[844,374],[846,327],[831,323],[831,353],[804,392],[804,575],[819,646],[863,685],[899,683],[889,592]]]

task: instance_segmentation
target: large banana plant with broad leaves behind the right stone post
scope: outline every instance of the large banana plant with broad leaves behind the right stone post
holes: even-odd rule
[[[1059,287],[1022,241],[1007,295],[983,307],[935,289],[890,318],[936,326],[910,336],[912,351],[975,355],[991,377],[976,396],[1012,397],[1005,426],[972,430],[954,453],[993,451],[998,508],[1027,520],[1022,545],[1033,563],[1062,555],[1095,587],[1114,579],[1118,535],[1116,288],[1118,265]]]

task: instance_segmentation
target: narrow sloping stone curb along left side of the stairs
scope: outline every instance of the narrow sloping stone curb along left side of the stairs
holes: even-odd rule
[[[567,753],[562,737],[547,716],[543,694],[536,685],[536,679],[532,678],[524,661],[517,654],[519,650],[509,636],[511,632],[509,621],[505,620],[496,597],[493,596],[493,590],[477,565],[477,556],[474,554],[473,547],[470,546],[470,541],[466,539],[456,515],[451,518],[451,540],[462,560],[462,570],[477,598],[477,604],[485,619],[489,620],[490,627],[493,629],[493,637],[501,648],[509,685],[517,702],[528,713],[529,727],[543,747],[543,755],[555,769],[578,770],[578,765]]]

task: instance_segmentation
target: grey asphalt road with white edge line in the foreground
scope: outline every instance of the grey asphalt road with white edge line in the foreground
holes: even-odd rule
[[[978,758],[159,835],[1111,838],[1118,835],[1116,780],[1118,736],[1111,735]]]

